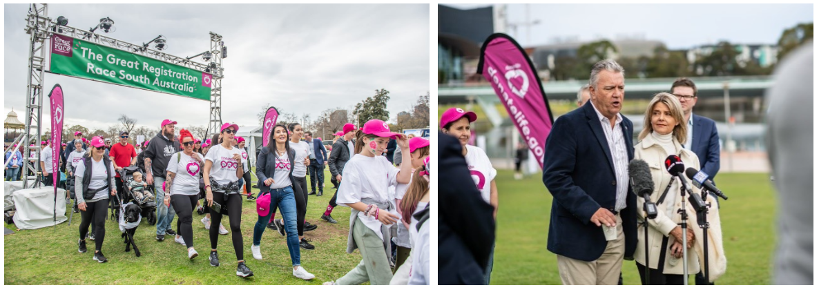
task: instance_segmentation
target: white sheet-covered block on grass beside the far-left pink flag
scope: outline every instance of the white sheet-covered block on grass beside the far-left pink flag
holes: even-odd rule
[[[40,229],[54,225],[54,188],[20,189],[12,193],[17,211],[14,224],[17,229]],[[57,188],[57,224],[66,218],[66,190]]]

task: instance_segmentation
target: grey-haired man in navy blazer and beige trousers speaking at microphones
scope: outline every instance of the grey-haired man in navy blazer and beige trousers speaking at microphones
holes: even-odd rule
[[[543,183],[554,197],[546,248],[563,284],[616,285],[637,242],[627,172],[634,127],[620,114],[622,66],[596,63],[589,84],[590,102],[560,116],[546,138]]]

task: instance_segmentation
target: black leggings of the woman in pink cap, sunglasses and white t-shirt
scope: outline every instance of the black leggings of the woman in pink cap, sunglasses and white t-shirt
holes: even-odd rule
[[[227,196],[227,197],[225,197]],[[244,246],[242,245],[242,195],[213,193],[213,201],[222,206],[228,206],[228,217],[230,218],[230,233],[233,238],[233,251],[236,251],[236,260],[242,261],[244,258]],[[219,227],[213,224],[222,222],[221,212],[210,212],[210,248],[216,249],[219,242]]]

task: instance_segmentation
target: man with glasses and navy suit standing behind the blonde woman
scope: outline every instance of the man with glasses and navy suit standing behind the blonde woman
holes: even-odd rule
[[[714,176],[719,171],[719,134],[717,134],[717,123],[704,116],[694,115],[692,112],[697,104],[697,85],[688,78],[679,78],[671,85],[671,92],[682,105],[682,111],[688,125],[688,138],[682,144],[690,151],[693,151],[699,158],[699,168],[708,174],[708,179],[713,183]],[[717,195],[711,193],[719,206]],[[705,278],[702,272],[695,278],[697,285],[705,285]],[[713,283],[711,283],[713,285]]]

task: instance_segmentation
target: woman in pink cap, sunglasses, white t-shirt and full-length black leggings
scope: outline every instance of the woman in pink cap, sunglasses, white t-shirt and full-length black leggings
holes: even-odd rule
[[[244,260],[244,245],[242,243],[242,195],[239,194],[238,180],[242,178],[242,152],[231,146],[235,138],[238,125],[224,123],[215,136],[213,147],[205,156],[205,169],[202,178],[205,181],[207,206],[210,206],[210,218],[214,224],[222,222],[222,214],[227,209],[230,217],[230,231],[232,232],[233,250],[236,252],[238,266],[236,274],[239,277],[250,277],[253,271],[247,268]],[[222,138],[222,143],[217,143]],[[213,210],[214,203],[221,206],[221,211]],[[216,254],[216,245],[219,242],[219,229],[210,227],[210,265],[219,265],[219,256]]]

